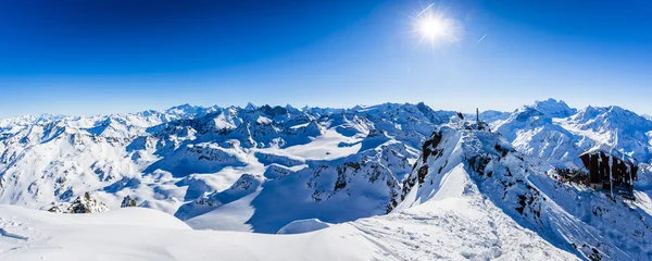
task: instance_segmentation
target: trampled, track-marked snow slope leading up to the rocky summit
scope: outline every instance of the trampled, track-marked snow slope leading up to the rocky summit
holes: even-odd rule
[[[353,223],[394,257],[411,260],[576,260],[516,224],[456,169],[434,199]]]

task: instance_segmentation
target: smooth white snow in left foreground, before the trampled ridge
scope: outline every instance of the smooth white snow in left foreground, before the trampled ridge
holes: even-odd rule
[[[381,258],[378,247],[348,224],[310,234],[275,236],[192,231],[174,216],[140,208],[64,215],[0,206],[0,216],[3,235],[13,235],[0,237],[0,259],[8,261]]]

